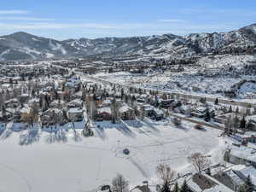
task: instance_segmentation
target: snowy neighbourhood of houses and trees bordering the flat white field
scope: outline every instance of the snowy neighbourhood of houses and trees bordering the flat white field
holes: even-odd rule
[[[118,82],[106,83],[90,75],[97,70],[112,73],[110,67],[97,69],[73,62],[52,62],[0,70],[1,134],[7,129],[73,129],[83,130],[83,137],[93,137],[96,127],[113,125],[124,127],[126,134],[130,134],[130,127],[143,119],[170,119],[177,127],[188,121],[200,131],[213,128],[222,132],[220,137],[227,143],[222,154],[225,163],[178,176],[175,182],[180,186],[186,183],[188,191],[193,192],[231,192],[239,191],[250,177],[256,189],[256,107],[220,103],[218,97],[207,102],[207,98],[196,100]],[[124,153],[129,154],[129,148]],[[148,183],[143,186],[132,190],[154,190],[149,189]]]

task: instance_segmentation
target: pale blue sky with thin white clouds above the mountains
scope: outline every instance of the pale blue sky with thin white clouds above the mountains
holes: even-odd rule
[[[226,32],[255,22],[255,0],[3,0],[0,6],[0,35],[57,39]]]

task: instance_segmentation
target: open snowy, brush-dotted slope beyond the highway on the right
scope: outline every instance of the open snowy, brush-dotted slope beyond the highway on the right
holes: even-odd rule
[[[204,77],[202,75],[195,75],[199,71],[206,73],[204,70],[213,70],[222,72],[229,67],[241,69],[247,64],[254,61],[253,55],[218,55],[206,56],[197,61],[196,66],[184,66],[183,73],[172,73],[166,71],[150,72],[145,74],[133,74],[128,72],[118,73],[97,73],[95,76],[108,81],[119,82],[120,84],[137,85],[144,88],[151,88],[157,90],[177,91],[187,94],[196,94],[201,96],[218,96],[224,97],[224,90],[232,90],[232,86],[241,82],[241,80],[255,80],[255,77],[246,74],[241,77],[219,76]],[[237,99],[246,99],[247,94],[255,96],[256,84],[247,83],[238,90]],[[194,90],[199,88],[200,90]],[[250,95],[250,96],[251,96]],[[250,97],[251,98],[251,97]]]

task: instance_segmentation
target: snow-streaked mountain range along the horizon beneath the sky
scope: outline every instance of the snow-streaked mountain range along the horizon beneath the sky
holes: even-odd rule
[[[131,38],[79,38],[57,41],[26,32],[0,37],[0,61],[63,58],[84,55],[196,56],[252,53],[256,24],[231,32],[164,34]]]

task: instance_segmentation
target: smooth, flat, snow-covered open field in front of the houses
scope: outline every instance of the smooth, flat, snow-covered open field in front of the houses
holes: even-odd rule
[[[106,125],[94,128],[94,137],[77,130],[4,131],[0,142],[0,191],[80,192],[110,183],[117,172],[131,185],[154,181],[155,166],[166,163],[177,172],[189,170],[193,152],[214,152],[221,146],[220,131],[197,131],[183,122],[145,119],[126,128]],[[131,126],[132,125],[132,126]],[[24,140],[31,141],[24,145]],[[131,153],[123,154],[128,148]]]

